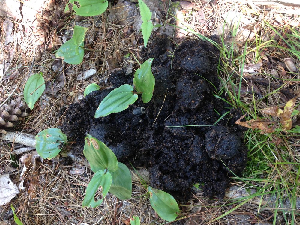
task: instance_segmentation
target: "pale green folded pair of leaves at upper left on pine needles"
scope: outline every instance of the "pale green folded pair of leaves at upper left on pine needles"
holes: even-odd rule
[[[56,58],[62,58],[69,64],[80,64],[83,59],[84,36],[88,28],[81,26],[74,26],[73,37],[66,41],[55,53]]]

